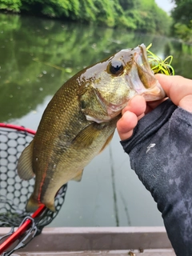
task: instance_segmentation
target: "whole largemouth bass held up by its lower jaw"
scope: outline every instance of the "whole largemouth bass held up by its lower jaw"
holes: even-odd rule
[[[82,170],[110,142],[122,109],[136,94],[146,101],[165,97],[143,44],[87,67],[54,94],[33,141],[18,160],[22,179],[36,175],[26,211],[41,204],[55,210],[59,188],[81,180]]]

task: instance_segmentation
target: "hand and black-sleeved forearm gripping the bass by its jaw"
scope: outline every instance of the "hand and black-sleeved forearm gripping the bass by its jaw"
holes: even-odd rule
[[[166,98],[146,102],[142,96],[135,96],[122,110],[118,134],[130,156],[131,169],[157,202],[176,255],[190,256],[192,80],[163,74],[156,78],[172,102],[158,106]],[[130,138],[133,130],[134,136]]]

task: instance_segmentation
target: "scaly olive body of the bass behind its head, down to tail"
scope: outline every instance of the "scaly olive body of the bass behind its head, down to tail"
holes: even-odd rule
[[[78,102],[78,90],[77,81],[66,82],[58,90],[26,150],[32,155],[32,166],[26,165],[26,158],[18,162],[18,174],[22,178],[36,175],[27,211],[36,210],[41,203],[54,210],[54,196],[59,188],[69,180],[80,180],[84,167],[114,134],[118,118],[102,123],[88,121]],[[26,177],[20,173],[23,165],[26,165]]]

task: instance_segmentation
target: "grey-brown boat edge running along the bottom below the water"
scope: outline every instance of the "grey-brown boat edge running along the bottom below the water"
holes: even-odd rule
[[[9,228],[0,228],[0,236]],[[44,228],[13,256],[175,256],[164,227]]]

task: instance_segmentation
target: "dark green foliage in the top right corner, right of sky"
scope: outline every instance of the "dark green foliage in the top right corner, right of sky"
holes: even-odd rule
[[[174,19],[173,34],[183,41],[192,43],[192,0],[174,0],[175,7],[171,12]]]

